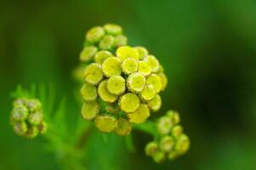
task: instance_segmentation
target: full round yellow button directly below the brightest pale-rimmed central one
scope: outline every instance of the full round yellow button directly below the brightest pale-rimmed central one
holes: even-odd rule
[[[119,100],[119,106],[122,111],[131,113],[139,108],[139,97],[136,94],[123,94]]]

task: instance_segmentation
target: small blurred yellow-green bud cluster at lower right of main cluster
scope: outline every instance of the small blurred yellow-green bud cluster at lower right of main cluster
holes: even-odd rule
[[[167,158],[174,160],[189,150],[190,139],[183,133],[183,127],[179,125],[178,112],[168,111],[165,116],[160,117],[157,130],[160,138],[145,146],[145,154],[151,156],[157,163]]]

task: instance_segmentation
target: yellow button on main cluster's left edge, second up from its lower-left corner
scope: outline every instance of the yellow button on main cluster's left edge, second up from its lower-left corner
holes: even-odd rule
[[[97,88],[94,85],[89,84],[87,82],[85,82],[82,85],[80,92],[82,94],[82,98],[85,99],[86,101],[92,101],[92,100],[96,99],[98,96]]]

